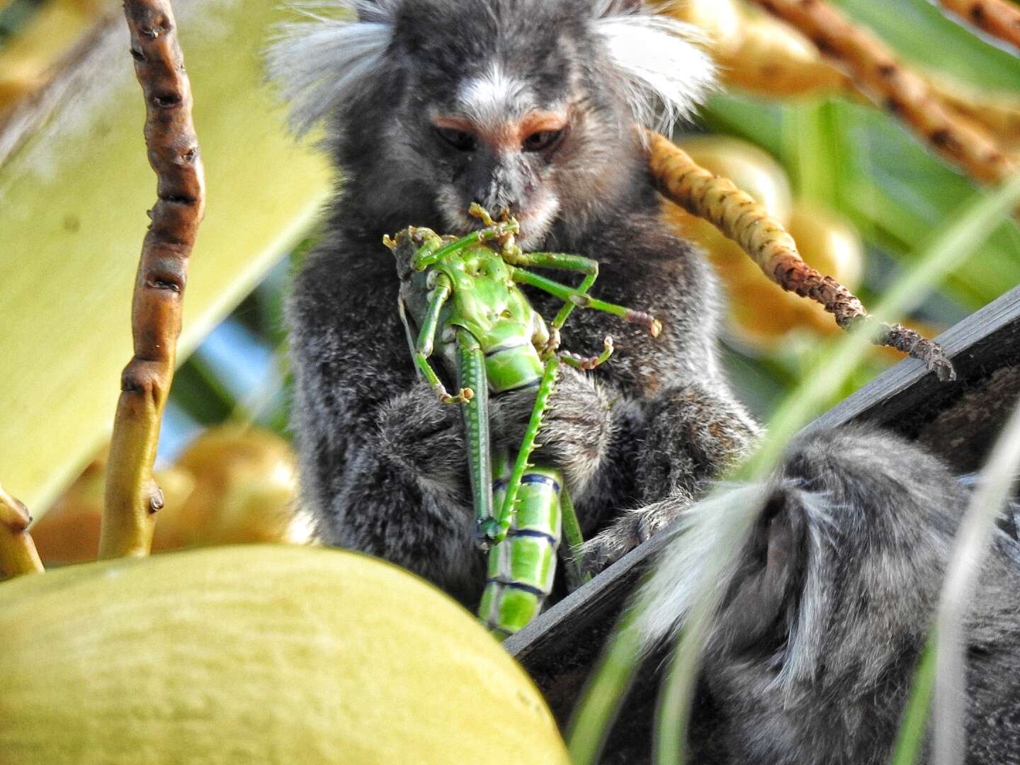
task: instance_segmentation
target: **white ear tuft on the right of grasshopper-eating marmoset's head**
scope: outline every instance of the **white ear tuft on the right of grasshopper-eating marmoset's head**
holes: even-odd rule
[[[611,0],[597,0],[596,11],[609,15],[597,18],[595,30],[624,76],[634,121],[668,136],[715,85],[712,59],[698,47],[704,36],[668,16],[614,13],[614,7]]]

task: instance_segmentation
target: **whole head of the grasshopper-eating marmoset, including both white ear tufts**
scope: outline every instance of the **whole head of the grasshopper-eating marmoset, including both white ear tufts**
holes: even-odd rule
[[[650,192],[636,125],[669,126],[712,81],[686,28],[641,0],[341,0],[292,24],[270,70],[301,133],[326,120],[351,214],[396,231],[511,212],[561,246]],[[643,196],[644,195],[644,196]]]

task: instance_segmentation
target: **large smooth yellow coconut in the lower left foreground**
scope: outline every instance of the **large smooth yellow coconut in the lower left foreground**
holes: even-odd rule
[[[0,584],[0,763],[566,763],[523,670],[380,561],[256,545]]]

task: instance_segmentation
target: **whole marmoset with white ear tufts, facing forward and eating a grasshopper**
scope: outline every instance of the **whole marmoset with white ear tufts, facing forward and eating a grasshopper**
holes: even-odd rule
[[[635,130],[686,113],[710,87],[709,58],[640,0],[324,5],[350,13],[290,26],[270,55],[297,130],[325,123],[339,181],[290,305],[304,505],[326,543],[477,602],[461,415],[415,377],[380,243],[409,224],[467,233],[479,202],[517,217],[526,250],[598,260],[594,295],[663,323],[653,340],[574,312],[568,347],[612,335],[617,350],[592,374],[562,374],[536,457],[563,470],[585,538],[599,532],[589,564],[615,560],[675,503],[621,510],[690,498],[758,434],[720,369],[715,280],[659,220]],[[494,440],[520,443],[532,399],[491,402]]]

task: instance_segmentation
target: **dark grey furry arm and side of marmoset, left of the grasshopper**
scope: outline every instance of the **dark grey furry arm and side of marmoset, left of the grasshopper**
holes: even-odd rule
[[[288,307],[302,505],[326,544],[380,555],[473,607],[484,572],[459,407],[416,378],[392,256],[352,250],[309,254]]]

